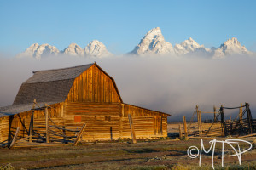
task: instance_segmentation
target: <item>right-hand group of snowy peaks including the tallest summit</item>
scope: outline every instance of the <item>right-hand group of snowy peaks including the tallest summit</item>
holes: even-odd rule
[[[224,58],[232,54],[253,54],[247,48],[241,46],[236,37],[224,42],[219,48],[205,48],[191,37],[180,44],[176,44],[174,48],[170,42],[166,42],[159,27],[156,27],[146,34],[141,42],[129,53],[136,55],[146,54],[176,54],[189,55],[198,54],[201,56],[211,56],[213,59]]]

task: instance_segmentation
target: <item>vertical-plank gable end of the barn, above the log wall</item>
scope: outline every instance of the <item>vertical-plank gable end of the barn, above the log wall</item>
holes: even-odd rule
[[[94,64],[74,79],[65,101],[120,103],[122,99],[113,78]]]

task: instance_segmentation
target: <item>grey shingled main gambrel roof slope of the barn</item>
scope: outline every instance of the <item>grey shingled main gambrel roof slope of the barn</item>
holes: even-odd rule
[[[13,105],[32,104],[34,99],[45,103],[65,101],[74,79],[91,65],[94,64],[34,71],[34,75],[21,84]]]

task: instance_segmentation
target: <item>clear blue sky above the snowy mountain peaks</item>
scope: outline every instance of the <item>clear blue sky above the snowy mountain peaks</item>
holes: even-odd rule
[[[192,37],[207,48],[237,37],[256,51],[256,1],[0,1],[0,53],[32,43],[63,50],[103,42],[113,54],[130,52],[154,27],[172,45]]]

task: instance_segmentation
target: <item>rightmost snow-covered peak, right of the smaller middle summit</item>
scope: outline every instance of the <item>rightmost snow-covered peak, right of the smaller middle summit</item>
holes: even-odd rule
[[[228,39],[226,42],[220,45],[219,48],[212,48],[212,58],[224,58],[233,54],[250,55],[252,52],[248,51],[245,46],[241,46],[236,37]]]

